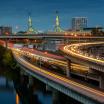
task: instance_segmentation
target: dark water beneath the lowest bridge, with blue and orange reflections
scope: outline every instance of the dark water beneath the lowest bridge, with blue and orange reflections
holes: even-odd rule
[[[0,104],[80,104],[35,78],[30,83],[19,69],[0,71]]]

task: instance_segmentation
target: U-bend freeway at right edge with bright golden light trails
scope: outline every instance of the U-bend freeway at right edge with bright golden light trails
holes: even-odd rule
[[[86,53],[83,53],[80,48],[85,47],[87,45],[100,45],[104,44],[104,42],[95,42],[95,43],[77,43],[64,46],[61,51],[65,54],[69,55],[69,57],[74,57],[76,59],[82,59],[85,62],[93,63],[96,65],[101,65],[102,69],[104,68],[104,60],[96,59],[92,56],[89,56]]]

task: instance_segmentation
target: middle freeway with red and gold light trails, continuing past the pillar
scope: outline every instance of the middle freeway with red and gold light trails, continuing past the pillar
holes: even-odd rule
[[[31,58],[35,58],[37,60],[45,61],[50,64],[62,66],[65,68],[67,67],[67,62],[66,62],[65,58],[62,56],[57,56],[57,55],[53,55],[50,53],[41,52],[41,51],[34,50],[34,49],[29,49],[29,48],[22,48],[22,49],[15,49],[15,50],[17,50],[18,52],[20,52],[23,55],[26,55]],[[71,68],[75,69],[75,70],[80,70],[80,71],[88,71],[89,70],[88,67],[78,65],[75,63],[71,63]]]

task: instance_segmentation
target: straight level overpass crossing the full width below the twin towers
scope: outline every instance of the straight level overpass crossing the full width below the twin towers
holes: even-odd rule
[[[35,34],[35,35],[0,35],[0,39],[38,39],[38,38],[69,38],[69,39],[104,39],[103,36],[72,36],[65,34]]]

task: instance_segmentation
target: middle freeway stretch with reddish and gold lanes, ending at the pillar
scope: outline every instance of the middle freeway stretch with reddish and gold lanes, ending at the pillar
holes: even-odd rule
[[[61,56],[40,52],[40,51],[29,49],[29,48],[17,49],[17,51],[23,55],[29,56],[31,58],[35,58],[37,60],[47,61],[51,64],[56,64],[64,67],[67,66],[67,62]]]

